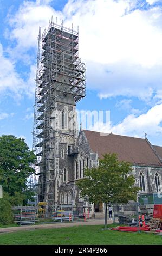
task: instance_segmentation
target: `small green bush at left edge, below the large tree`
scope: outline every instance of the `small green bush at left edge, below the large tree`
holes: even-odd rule
[[[3,192],[3,198],[0,198],[0,223],[7,225],[13,222],[13,213],[11,209],[10,197],[8,193]]]

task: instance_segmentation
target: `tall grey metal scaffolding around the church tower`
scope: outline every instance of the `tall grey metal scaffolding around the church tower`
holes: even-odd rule
[[[70,95],[77,102],[85,97],[85,63],[78,56],[79,32],[51,22],[41,37],[41,60],[37,62],[35,95],[34,147],[38,167],[38,200],[46,202],[48,211],[54,199],[56,170],[56,131],[52,127],[53,111],[60,97]],[[38,46],[38,51],[39,51]],[[59,156],[57,156],[59,157]]]

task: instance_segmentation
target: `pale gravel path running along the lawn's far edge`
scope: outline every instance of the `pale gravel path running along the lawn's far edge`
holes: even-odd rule
[[[108,224],[113,223],[112,220],[108,220]],[[38,224],[38,225],[24,225],[21,227],[10,227],[10,228],[0,228],[0,234],[10,233],[22,230],[34,230],[34,229],[47,229],[47,228],[64,228],[64,227],[74,227],[80,225],[104,225],[103,219],[92,219],[86,222],[60,222],[60,223],[51,223],[51,224]]]

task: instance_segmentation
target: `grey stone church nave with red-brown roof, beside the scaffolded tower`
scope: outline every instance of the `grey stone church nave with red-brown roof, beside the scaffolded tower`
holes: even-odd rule
[[[98,166],[99,159],[106,153],[116,153],[120,161],[133,164],[131,174],[135,177],[135,186],[140,187],[140,193],[159,191],[162,184],[162,147],[151,145],[147,137],[142,139],[80,129],[75,147],[67,143],[66,137],[63,135],[60,144],[63,174],[58,204],[88,206],[79,198],[75,182],[84,177],[84,168]],[[92,205],[92,212],[94,210],[102,212],[103,205]]]

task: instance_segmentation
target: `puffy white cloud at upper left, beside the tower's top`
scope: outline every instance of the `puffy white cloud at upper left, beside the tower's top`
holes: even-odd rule
[[[17,45],[14,54],[22,57],[22,53],[31,47],[37,47],[38,29],[41,26],[42,31],[48,27],[52,16],[57,16],[58,20],[62,14],[50,7],[51,1],[24,1],[18,12],[14,16],[9,16],[9,24],[12,27],[10,39],[16,40]],[[59,21],[61,21],[60,19]]]

